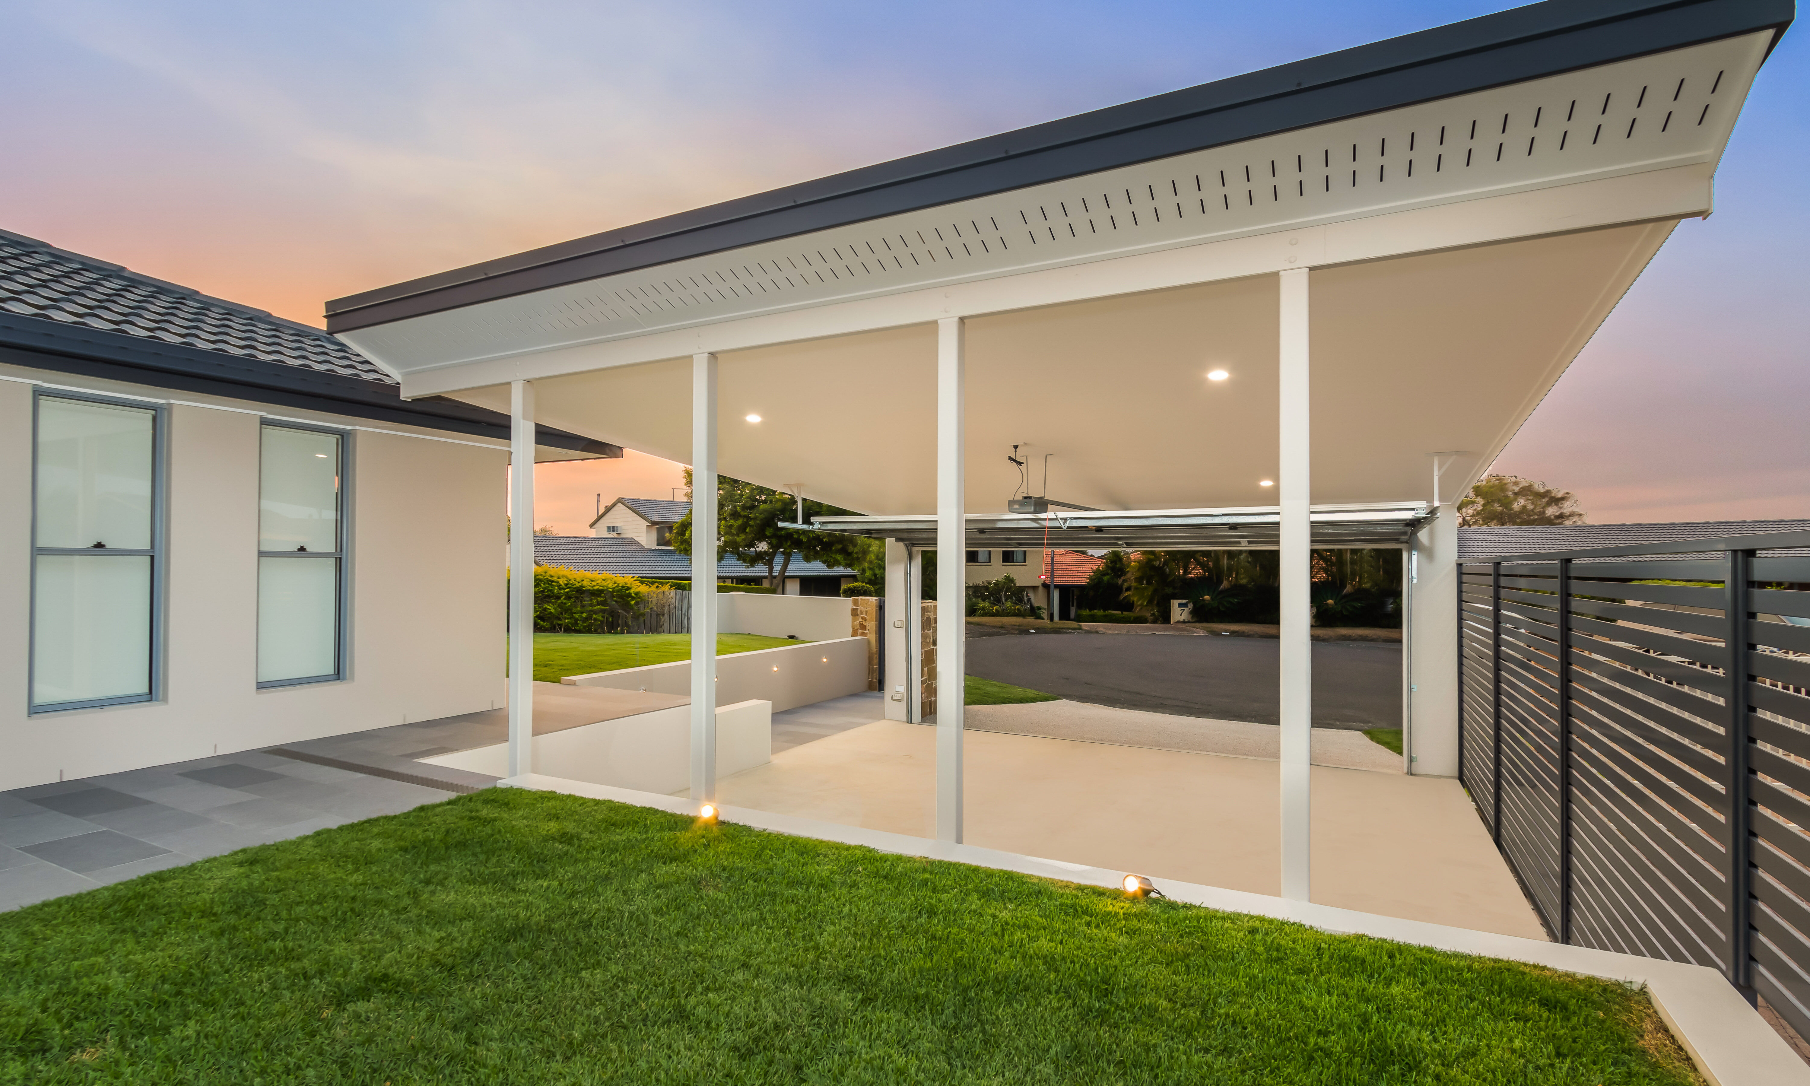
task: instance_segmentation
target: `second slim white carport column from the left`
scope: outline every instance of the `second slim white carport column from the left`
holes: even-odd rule
[[[715,355],[691,355],[691,800],[717,802]]]

